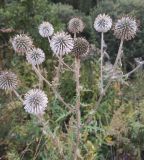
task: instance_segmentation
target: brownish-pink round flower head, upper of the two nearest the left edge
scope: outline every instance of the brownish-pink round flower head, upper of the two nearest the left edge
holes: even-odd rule
[[[26,53],[32,46],[32,39],[26,34],[18,34],[11,39],[13,49],[17,53]]]

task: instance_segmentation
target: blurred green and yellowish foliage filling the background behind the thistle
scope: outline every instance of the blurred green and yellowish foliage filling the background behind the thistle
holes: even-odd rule
[[[144,1],[141,0],[1,0],[0,3],[0,70],[11,69],[21,80],[19,92],[24,94],[37,86],[37,79],[25,62],[11,48],[9,39],[16,33],[24,32],[33,37],[35,45],[46,53],[44,68],[46,76],[52,80],[56,59],[52,56],[46,39],[40,37],[38,26],[42,21],[50,21],[56,31],[67,30],[67,23],[74,16],[82,17],[86,28],[82,36],[100,48],[100,35],[93,29],[93,21],[99,13],[107,13],[114,20],[124,14],[132,15],[140,21],[136,38],[124,45],[125,72],[135,66],[133,59],[143,57],[144,50]],[[119,41],[112,31],[106,34],[106,44],[111,61],[114,60]],[[82,121],[89,116],[89,110],[98,98],[98,52],[82,61]],[[66,58],[71,62],[71,58]],[[63,73],[60,91],[65,101],[74,103],[75,82],[69,72]],[[114,84],[93,117],[82,132],[81,153],[84,160],[141,160],[144,159],[144,75],[139,72],[128,81],[128,86]],[[45,87],[50,104],[46,118],[55,134],[62,140],[71,160],[73,130],[69,137],[65,123],[74,122],[62,104]],[[57,127],[59,126],[59,127]],[[58,153],[50,138],[41,135],[40,126],[34,117],[24,112],[20,102],[11,93],[0,92],[0,159],[57,160]]]

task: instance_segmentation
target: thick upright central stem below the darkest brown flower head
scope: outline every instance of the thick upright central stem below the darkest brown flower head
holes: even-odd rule
[[[80,112],[80,58],[75,57],[75,77],[76,77],[76,145],[74,148],[74,160],[77,160],[77,151],[80,143],[80,128],[81,128],[81,112]]]

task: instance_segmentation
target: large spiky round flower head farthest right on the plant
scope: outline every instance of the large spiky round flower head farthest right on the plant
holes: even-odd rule
[[[114,26],[114,35],[118,39],[131,40],[135,37],[138,30],[138,25],[135,19],[132,17],[122,17]]]

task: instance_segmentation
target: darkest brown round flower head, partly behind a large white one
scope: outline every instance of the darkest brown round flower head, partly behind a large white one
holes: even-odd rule
[[[75,56],[83,56],[86,55],[89,52],[89,43],[84,38],[76,38],[74,40],[74,47],[72,50],[72,53],[75,54]]]

